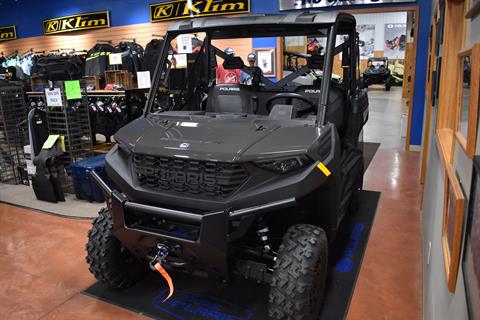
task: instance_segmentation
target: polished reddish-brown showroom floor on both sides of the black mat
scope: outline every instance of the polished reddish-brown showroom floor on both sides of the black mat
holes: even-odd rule
[[[376,112],[399,121],[401,102],[390,94],[398,92],[371,94],[372,122]],[[365,189],[382,197],[348,319],[420,319],[420,154],[403,151],[399,135],[399,144],[393,137],[381,140],[387,139],[382,130],[396,125],[370,126],[377,134],[368,135],[367,127],[366,141],[382,142],[382,148],[366,173]],[[2,319],[144,318],[81,293],[94,282],[84,258],[89,227],[88,220],[0,204]]]

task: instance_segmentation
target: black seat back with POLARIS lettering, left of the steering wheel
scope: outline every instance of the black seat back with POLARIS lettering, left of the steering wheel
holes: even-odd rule
[[[252,86],[219,84],[208,93],[207,112],[256,113],[257,98]]]

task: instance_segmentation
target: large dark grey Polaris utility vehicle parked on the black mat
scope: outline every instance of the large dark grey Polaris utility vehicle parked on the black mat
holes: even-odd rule
[[[89,232],[95,277],[126,288],[159,263],[173,278],[219,285],[240,275],[270,284],[271,319],[315,319],[329,244],[363,181],[368,98],[355,24],[303,12],[171,26],[145,114],[106,157],[112,184],[92,173],[108,206]],[[305,36],[323,37],[324,51],[276,82],[231,54],[252,37]],[[332,81],[339,54],[342,79]],[[307,74],[310,83],[296,81]]]

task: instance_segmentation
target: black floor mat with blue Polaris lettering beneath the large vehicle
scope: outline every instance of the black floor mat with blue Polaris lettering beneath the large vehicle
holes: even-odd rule
[[[342,222],[329,261],[327,290],[320,320],[344,319],[367,247],[380,193],[362,191],[358,211]],[[333,253],[333,254],[332,254]],[[208,279],[174,274],[175,294],[162,303],[168,290],[163,279],[149,273],[124,291],[113,291],[97,282],[88,296],[163,320],[267,319],[268,286],[235,279],[224,288]]]

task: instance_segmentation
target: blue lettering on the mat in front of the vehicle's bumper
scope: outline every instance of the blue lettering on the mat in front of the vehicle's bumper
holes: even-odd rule
[[[239,306],[219,301],[214,298],[202,297],[195,293],[175,290],[172,298],[162,301],[168,294],[163,290],[151,302],[151,305],[161,311],[164,319],[175,320],[251,320],[252,311]]]

